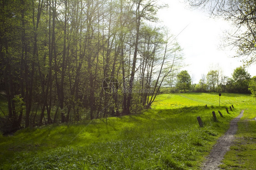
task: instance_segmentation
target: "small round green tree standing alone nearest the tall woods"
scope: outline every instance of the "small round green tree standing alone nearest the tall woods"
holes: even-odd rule
[[[191,87],[191,77],[187,70],[180,71],[177,75],[177,85],[179,90],[190,90]]]

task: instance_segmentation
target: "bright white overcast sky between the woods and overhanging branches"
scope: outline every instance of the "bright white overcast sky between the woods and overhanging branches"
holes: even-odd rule
[[[159,10],[162,25],[167,26],[172,34],[178,35],[176,40],[183,48],[185,64],[183,70],[188,70],[198,83],[201,75],[207,75],[211,69],[219,65],[224,75],[231,77],[234,69],[243,65],[239,58],[232,58],[235,50],[220,48],[224,31],[231,28],[230,24],[221,19],[210,18],[208,13],[190,9],[184,0],[161,0],[169,4],[169,8]],[[256,65],[246,68],[251,76],[256,75]]]

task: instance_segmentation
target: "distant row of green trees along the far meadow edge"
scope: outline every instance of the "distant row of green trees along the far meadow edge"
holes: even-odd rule
[[[256,94],[256,77],[252,77],[244,67],[237,67],[232,77],[223,75],[220,69],[210,70],[202,75],[198,84],[193,84],[187,70],[169,75],[166,85],[171,87],[169,92],[227,92]]]

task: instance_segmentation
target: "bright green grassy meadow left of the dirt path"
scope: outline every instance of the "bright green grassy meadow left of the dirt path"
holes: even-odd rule
[[[163,94],[141,114],[19,130],[0,136],[0,169],[197,170],[229,121],[256,105],[250,95],[222,94],[220,101],[216,93]]]

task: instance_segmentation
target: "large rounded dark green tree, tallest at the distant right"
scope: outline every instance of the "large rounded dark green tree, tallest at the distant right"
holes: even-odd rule
[[[234,79],[235,83],[235,91],[238,93],[248,93],[249,90],[249,81],[251,78],[251,75],[246,71],[243,67],[237,67],[232,77]]]

